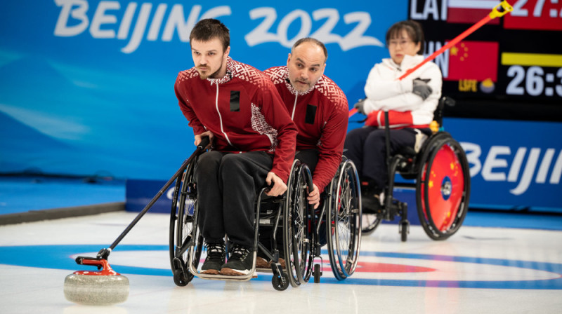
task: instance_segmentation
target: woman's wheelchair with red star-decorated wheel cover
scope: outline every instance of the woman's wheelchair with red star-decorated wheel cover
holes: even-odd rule
[[[417,149],[403,147],[390,156],[390,130],[385,123],[388,183],[381,207],[375,212],[363,211],[363,233],[372,233],[382,220],[392,221],[399,216],[398,231],[401,240],[407,240],[410,228],[407,203],[393,198],[394,187],[415,188],[419,221],[429,238],[445,240],[459,230],[469,208],[469,163],[462,146],[443,131],[445,104],[454,106],[455,100],[441,97],[433,113],[432,134],[421,145],[416,145]],[[388,112],[385,112],[385,119],[388,121]],[[404,179],[415,179],[415,183],[395,182],[396,173]]]

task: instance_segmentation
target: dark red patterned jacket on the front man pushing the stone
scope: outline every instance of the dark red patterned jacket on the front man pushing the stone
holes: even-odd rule
[[[174,89],[195,135],[213,132],[217,151],[274,153],[270,171],[287,182],[297,130],[268,76],[228,57],[223,78],[202,80],[193,67]]]

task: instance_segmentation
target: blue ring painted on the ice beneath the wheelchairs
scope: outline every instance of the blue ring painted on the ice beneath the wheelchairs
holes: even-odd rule
[[[72,255],[77,252],[98,252],[103,245],[22,245],[0,247],[0,264],[27,266],[35,268],[55,268],[76,271],[79,267]],[[168,251],[168,245],[119,245],[119,251]],[[327,251],[322,251],[327,254]],[[400,259],[422,259],[431,261],[450,261],[474,263],[494,266],[507,266],[548,271],[561,275],[560,278],[546,280],[498,280],[498,281],[467,281],[467,280],[393,280],[347,278],[338,281],[336,278],[322,278],[322,283],[338,283],[341,285],[377,285],[395,287],[447,287],[447,288],[479,288],[479,289],[562,289],[562,264],[540,261],[519,261],[513,259],[490,259],[485,257],[459,257],[434,254],[410,254],[394,252],[361,252],[365,257],[390,257]],[[167,254],[166,254],[167,257]],[[110,264],[119,273],[134,275],[172,276],[171,270],[159,268],[143,268]],[[61,279],[62,280],[62,279]],[[171,279],[170,279],[171,280]],[[259,276],[253,280],[270,281],[268,276]]]

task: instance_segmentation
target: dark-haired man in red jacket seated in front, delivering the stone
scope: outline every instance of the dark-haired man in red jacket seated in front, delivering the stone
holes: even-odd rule
[[[210,151],[195,168],[200,228],[207,247],[203,273],[247,275],[254,263],[254,196],[261,186],[287,190],[296,127],[269,78],[228,57],[230,34],[221,22],[197,22],[190,34],[195,67],[174,86],[195,144]],[[233,242],[225,264],[224,235]]]

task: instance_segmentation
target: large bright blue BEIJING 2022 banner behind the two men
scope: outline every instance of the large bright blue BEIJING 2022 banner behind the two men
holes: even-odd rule
[[[407,1],[1,1],[0,173],[171,176],[195,149],[174,81],[203,18],[224,22],[230,56],[260,70],[320,39],[325,74],[353,105]]]

